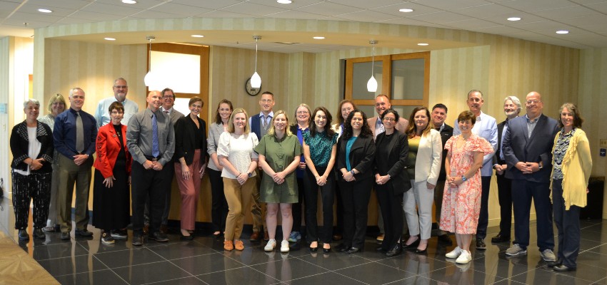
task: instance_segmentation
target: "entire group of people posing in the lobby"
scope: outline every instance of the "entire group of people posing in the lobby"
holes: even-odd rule
[[[514,241],[506,255],[526,254],[533,199],[541,256],[557,271],[576,269],[578,216],[586,206],[592,162],[583,120],[572,103],[561,106],[557,121],[543,114],[539,93],[526,96],[524,116],[518,116],[521,101],[508,96],[506,120],[497,124],[481,110],[481,91],[471,90],[469,110],[458,115],[452,128],[445,123],[446,105],[414,108],[406,120],[386,95],[378,95],[377,116],[367,118],[352,101],[342,100],[332,124],[331,113],[322,106],[311,110],[299,105],[293,121],[283,110],[274,113],[274,94],[265,92],[261,112],[251,116],[221,100],[207,135],[199,118],[200,98],[191,98],[190,113],[183,115],[172,108],[173,90],[151,91],[146,110],[138,112],[126,99],[124,78],[116,79],[113,88],[114,98],[101,100],[95,117],[81,110],[81,88],[70,90],[68,110],[63,97],[54,95],[49,115],[39,120],[39,103],[24,103],[26,120],[11,135],[19,239],[29,239],[25,228],[31,199],[34,237],[60,231],[61,239],[69,239],[74,183],[76,235],[91,236],[86,230],[91,166],[96,169],[93,225],[103,230],[102,242],[126,239],[129,222],[133,244],[142,244],[145,229],[150,239],[166,242],[173,175],[182,198],[181,238],[192,239],[201,178],[208,172],[214,235],[223,235],[226,250],[244,249],[241,234],[249,211],[254,221],[250,239],[260,240],[264,229],[264,250],[274,250],[280,211],[281,252],[289,252],[289,241],[302,234],[311,252],[321,244],[323,252],[330,252],[331,239],[342,239],[341,252],[359,252],[375,191],[381,213],[379,252],[426,253],[435,204],[439,242],[452,244],[448,232],[456,237],[457,246],[446,257],[465,264],[471,261],[475,237],[476,249],[486,249],[489,185],[496,170],[501,222],[491,242],[510,241],[513,209]],[[318,195],[322,227],[316,218]],[[339,233],[333,234],[336,200]],[[306,233],[301,232],[302,217]],[[553,253],[553,219],[558,254]],[[405,231],[409,237],[401,240]]]

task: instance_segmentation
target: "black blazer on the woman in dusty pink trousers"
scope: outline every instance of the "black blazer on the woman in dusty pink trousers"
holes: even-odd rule
[[[191,120],[190,115],[181,117],[175,125],[175,155],[174,161],[179,162],[181,157],[186,160],[186,165],[194,162],[194,150],[200,149],[200,161],[204,164],[206,156],[206,123],[198,119],[199,128]],[[196,137],[199,137],[199,145],[196,145]]]

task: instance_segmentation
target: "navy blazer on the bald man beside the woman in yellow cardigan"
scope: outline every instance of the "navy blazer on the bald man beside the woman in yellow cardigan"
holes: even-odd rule
[[[531,182],[550,182],[552,171],[552,146],[558,132],[558,123],[553,118],[540,115],[531,137],[528,136],[527,116],[508,120],[506,134],[502,138],[503,157],[508,165],[506,178]],[[517,162],[542,162],[538,172],[523,174],[514,165]]]

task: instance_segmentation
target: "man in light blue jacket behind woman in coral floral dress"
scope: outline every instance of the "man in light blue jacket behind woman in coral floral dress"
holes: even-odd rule
[[[468,92],[466,104],[470,111],[476,116],[476,123],[472,128],[472,133],[484,138],[493,147],[493,152],[498,147],[498,126],[496,119],[481,111],[483,107],[483,93],[479,90]],[[453,135],[461,134],[456,122],[453,124]],[[483,186],[481,194],[481,214],[478,216],[478,227],[476,228],[476,249],[486,249],[485,237],[487,236],[487,225],[489,221],[489,187],[491,186],[491,176],[493,176],[493,153],[483,157],[483,167],[481,167],[481,183]]]

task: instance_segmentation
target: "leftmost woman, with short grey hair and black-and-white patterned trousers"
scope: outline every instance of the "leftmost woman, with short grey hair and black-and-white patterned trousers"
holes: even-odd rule
[[[36,120],[40,114],[38,100],[29,99],[23,107],[26,119],[15,125],[10,139],[15,229],[19,229],[19,240],[29,239],[26,228],[33,199],[34,238],[45,239],[42,228],[46,226],[51,199],[53,134],[48,125]]]

